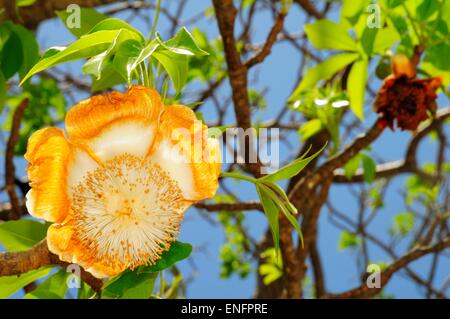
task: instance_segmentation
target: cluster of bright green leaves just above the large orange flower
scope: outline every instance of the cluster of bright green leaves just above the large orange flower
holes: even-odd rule
[[[146,40],[142,33],[122,20],[107,18],[92,9],[85,10],[86,14],[81,14],[80,21],[83,28],[69,28],[79,38],[67,48],[47,51],[22,83],[55,65],[88,58],[83,73],[92,75],[93,91],[134,81],[145,86],[157,86],[164,70],[178,95],[188,81],[188,57],[208,54],[184,27],[167,41],[157,33],[155,39]],[[58,15],[64,23],[68,22],[67,12],[60,11]],[[154,67],[157,80],[153,78]],[[166,83],[163,82],[162,91],[167,90]]]

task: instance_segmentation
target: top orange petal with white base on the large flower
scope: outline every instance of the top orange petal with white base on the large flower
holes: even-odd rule
[[[162,112],[161,97],[141,86],[125,93],[93,96],[69,110],[69,138],[86,144],[102,160],[129,153],[145,155],[155,137]]]

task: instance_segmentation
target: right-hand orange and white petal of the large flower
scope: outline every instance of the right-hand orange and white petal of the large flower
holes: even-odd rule
[[[149,153],[178,182],[187,200],[214,196],[221,167],[219,144],[208,138],[206,125],[183,105],[167,106]]]

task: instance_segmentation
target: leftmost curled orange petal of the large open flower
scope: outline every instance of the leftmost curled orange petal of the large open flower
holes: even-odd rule
[[[28,212],[50,222],[65,218],[69,209],[66,192],[70,145],[61,129],[48,127],[36,131],[28,140],[25,158],[31,190],[27,194]]]

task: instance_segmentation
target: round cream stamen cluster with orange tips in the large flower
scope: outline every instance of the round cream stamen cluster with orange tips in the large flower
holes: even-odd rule
[[[121,269],[159,259],[189,206],[158,164],[129,154],[88,172],[72,193],[75,237],[95,260]]]

